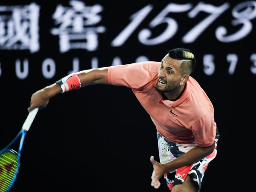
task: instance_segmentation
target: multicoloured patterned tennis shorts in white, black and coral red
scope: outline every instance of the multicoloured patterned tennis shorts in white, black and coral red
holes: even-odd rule
[[[197,182],[199,186],[198,192],[200,191],[201,182],[204,177],[204,172],[209,162],[213,160],[217,155],[217,142],[219,139],[219,131],[218,129],[216,129],[216,131],[217,134],[215,137],[215,149],[210,155],[208,155],[204,159],[201,159],[198,162],[195,162],[194,164],[180,167],[176,170],[164,174],[165,181],[170,190],[172,190],[175,185],[182,184],[187,175],[189,175],[191,179]],[[170,142],[166,140],[163,136],[161,136],[159,133],[157,133],[157,138],[159,157],[161,163],[170,162],[196,146],[195,142],[187,144],[177,144]]]

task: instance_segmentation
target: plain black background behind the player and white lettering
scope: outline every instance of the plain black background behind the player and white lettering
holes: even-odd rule
[[[32,1],[1,1],[1,5],[30,4]],[[178,32],[169,41],[146,46],[137,35],[156,17],[170,1],[86,1],[88,6],[96,3],[104,10],[99,25],[106,27],[99,34],[96,51],[70,50],[59,52],[59,37],[50,33],[54,28],[52,14],[56,5],[69,6],[69,1],[39,2],[40,50],[0,50],[2,73],[1,87],[1,133],[3,148],[20,130],[26,116],[33,92],[54,83],[72,69],[72,60],[78,57],[80,70],[91,68],[91,59],[98,57],[99,67],[110,66],[119,56],[122,64],[134,63],[140,55],[151,61],[161,61],[169,49],[189,48],[197,58],[193,73],[205,90],[215,108],[215,121],[220,131],[217,157],[210,163],[202,182],[202,192],[220,190],[229,183],[236,171],[230,163],[243,159],[241,149],[248,147],[253,136],[255,75],[250,72],[250,55],[255,53],[255,29],[245,38],[223,43],[216,39],[218,26],[234,33],[241,25],[232,26],[232,9],[241,1],[230,1],[230,8],[217,18],[192,44],[182,43],[182,37],[193,26],[208,16],[199,13],[195,18],[187,12],[170,13],[179,25]],[[172,1],[179,4],[197,1]],[[219,6],[228,1],[204,1]],[[130,23],[130,16],[147,4],[154,6],[150,14],[121,47],[112,47],[111,41]],[[253,26],[255,20],[251,20]],[[155,36],[164,29],[162,24],[152,30]],[[234,53],[239,59],[233,75],[228,74],[226,55]],[[207,76],[203,71],[203,55],[215,56],[215,72]],[[18,79],[15,74],[16,59],[29,60],[29,75]],[[45,79],[41,65],[46,58],[56,63],[56,74]],[[252,110],[249,112],[249,109]],[[240,150],[237,150],[237,149]],[[78,91],[59,94],[48,106],[39,111],[24,142],[21,168],[12,190],[15,191],[120,191],[155,190],[150,186],[152,165],[150,156],[158,157],[156,128],[150,116],[127,87],[112,85],[88,86]],[[232,173],[233,173],[232,172]],[[165,181],[158,191],[168,191]]]

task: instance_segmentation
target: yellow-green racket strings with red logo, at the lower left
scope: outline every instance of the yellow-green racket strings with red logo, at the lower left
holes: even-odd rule
[[[0,192],[6,192],[17,174],[18,157],[14,151],[0,154]]]

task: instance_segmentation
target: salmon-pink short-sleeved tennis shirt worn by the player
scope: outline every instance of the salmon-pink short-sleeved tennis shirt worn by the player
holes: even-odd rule
[[[198,146],[210,146],[216,135],[210,99],[190,76],[178,100],[165,100],[155,89],[160,65],[160,62],[148,61],[110,66],[108,83],[130,87],[150,115],[158,133],[167,140],[180,144],[195,141]]]

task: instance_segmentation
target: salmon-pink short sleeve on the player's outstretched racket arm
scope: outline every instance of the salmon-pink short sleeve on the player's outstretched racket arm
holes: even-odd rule
[[[108,68],[109,85],[123,85],[139,89],[150,81],[148,62],[110,66]]]

